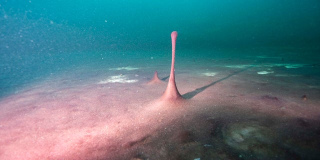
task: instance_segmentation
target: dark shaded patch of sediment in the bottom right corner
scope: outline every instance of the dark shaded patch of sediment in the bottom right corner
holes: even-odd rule
[[[201,107],[188,112],[189,116],[170,116],[156,130],[114,146],[116,154],[103,159],[188,159],[196,155],[201,159],[253,160],[320,156],[319,118],[283,118],[263,111],[252,114],[252,109],[232,104],[208,107],[209,110]],[[159,144],[161,151],[156,149]],[[103,145],[98,149],[103,150]]]

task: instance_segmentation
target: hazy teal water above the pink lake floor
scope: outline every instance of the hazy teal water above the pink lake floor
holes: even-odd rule
[[[298,49],[316,61],[319,7],[318,0],[2,0],[0,96],[101,53],[121,59],[116,52],[167,52],[172,30],[177,49],[204,57],[271,47],[279,48],[275,54]]]

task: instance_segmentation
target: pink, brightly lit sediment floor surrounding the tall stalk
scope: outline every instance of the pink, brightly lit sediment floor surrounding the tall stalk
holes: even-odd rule
[[[319,120],[318,77],[297,75],[292,80],[284,74],[275,76],[276,69],[257,74],[265,69],[261,66],[194,63],[192,68],[187,67],[192,64],[176,65],[177,88],[186,98],[179,106],[157,103],[166,84],[146,85],[154,68],[125,71],[129,79],[138,80],[128,83],[99,83],[106,77],[95,76],[79,84],[72,73],[52,75],[4,97],[0,101],[0,159],[194,159],[209,155],[235,159],[223,153],[223,140],[210,137],[219,121],[272,119],[272,126],[281,128],[284,123],[293,125],[294,119],[305,119],[310,125]],[[160,78],[168,76],[167,68],[157,69]],[[203,145],[213,145],[206,141],[222,146],[205,153],[208,148]]]

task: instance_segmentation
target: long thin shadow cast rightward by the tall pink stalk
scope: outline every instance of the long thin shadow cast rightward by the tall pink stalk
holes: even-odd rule
[[[183,94],[182,96],[183,96],[183,98],[185,98],[185,99],[190,99],[190,98],[192,98],[193,96],[195,96],[196,94],[198,94],[198,93],[202,92],[203,90],[205,90],[206,88],[208,88],[209,86],[214,85],[214,84],[217,83],[217,82],[223,81],[223,80],[225,80],[225,79],[227,79],[227,78],[229,78],[229,77],[231,77],[231,76],[233,76],[233,75],[235,75],[235,74],[238,74],[238,73],[240,73],[240,72],[242,72],[242,71],[245,71],[245,70],[247,70],[247,69],[249,69],[249,68],[251,68],[251,67],[253,67],[253,65],[248,66],[248,67],[246,67],[246,68],[244,68],[244,69],[241,69],[241,70],[239,70],[239,71],[236,71],[236,72],[234,72],[234,73],[232,73],[232,74],[229,74],[229,75],[227,75],[227,76],[225,76],[225,77],[223,77],[223,78],[221,78],[221,79],[218,79],[218,80],[216,80],[216,81],[213,81],[213,82],[211,82],[211,83],[208,84],[208,85],[204,85],[204,86],[202,86],[202,87],[200,87],[200,88],[196,88],[196,89],[194,89],[193,91],[190,91],[190,92],[187,92],[187,93]]]

